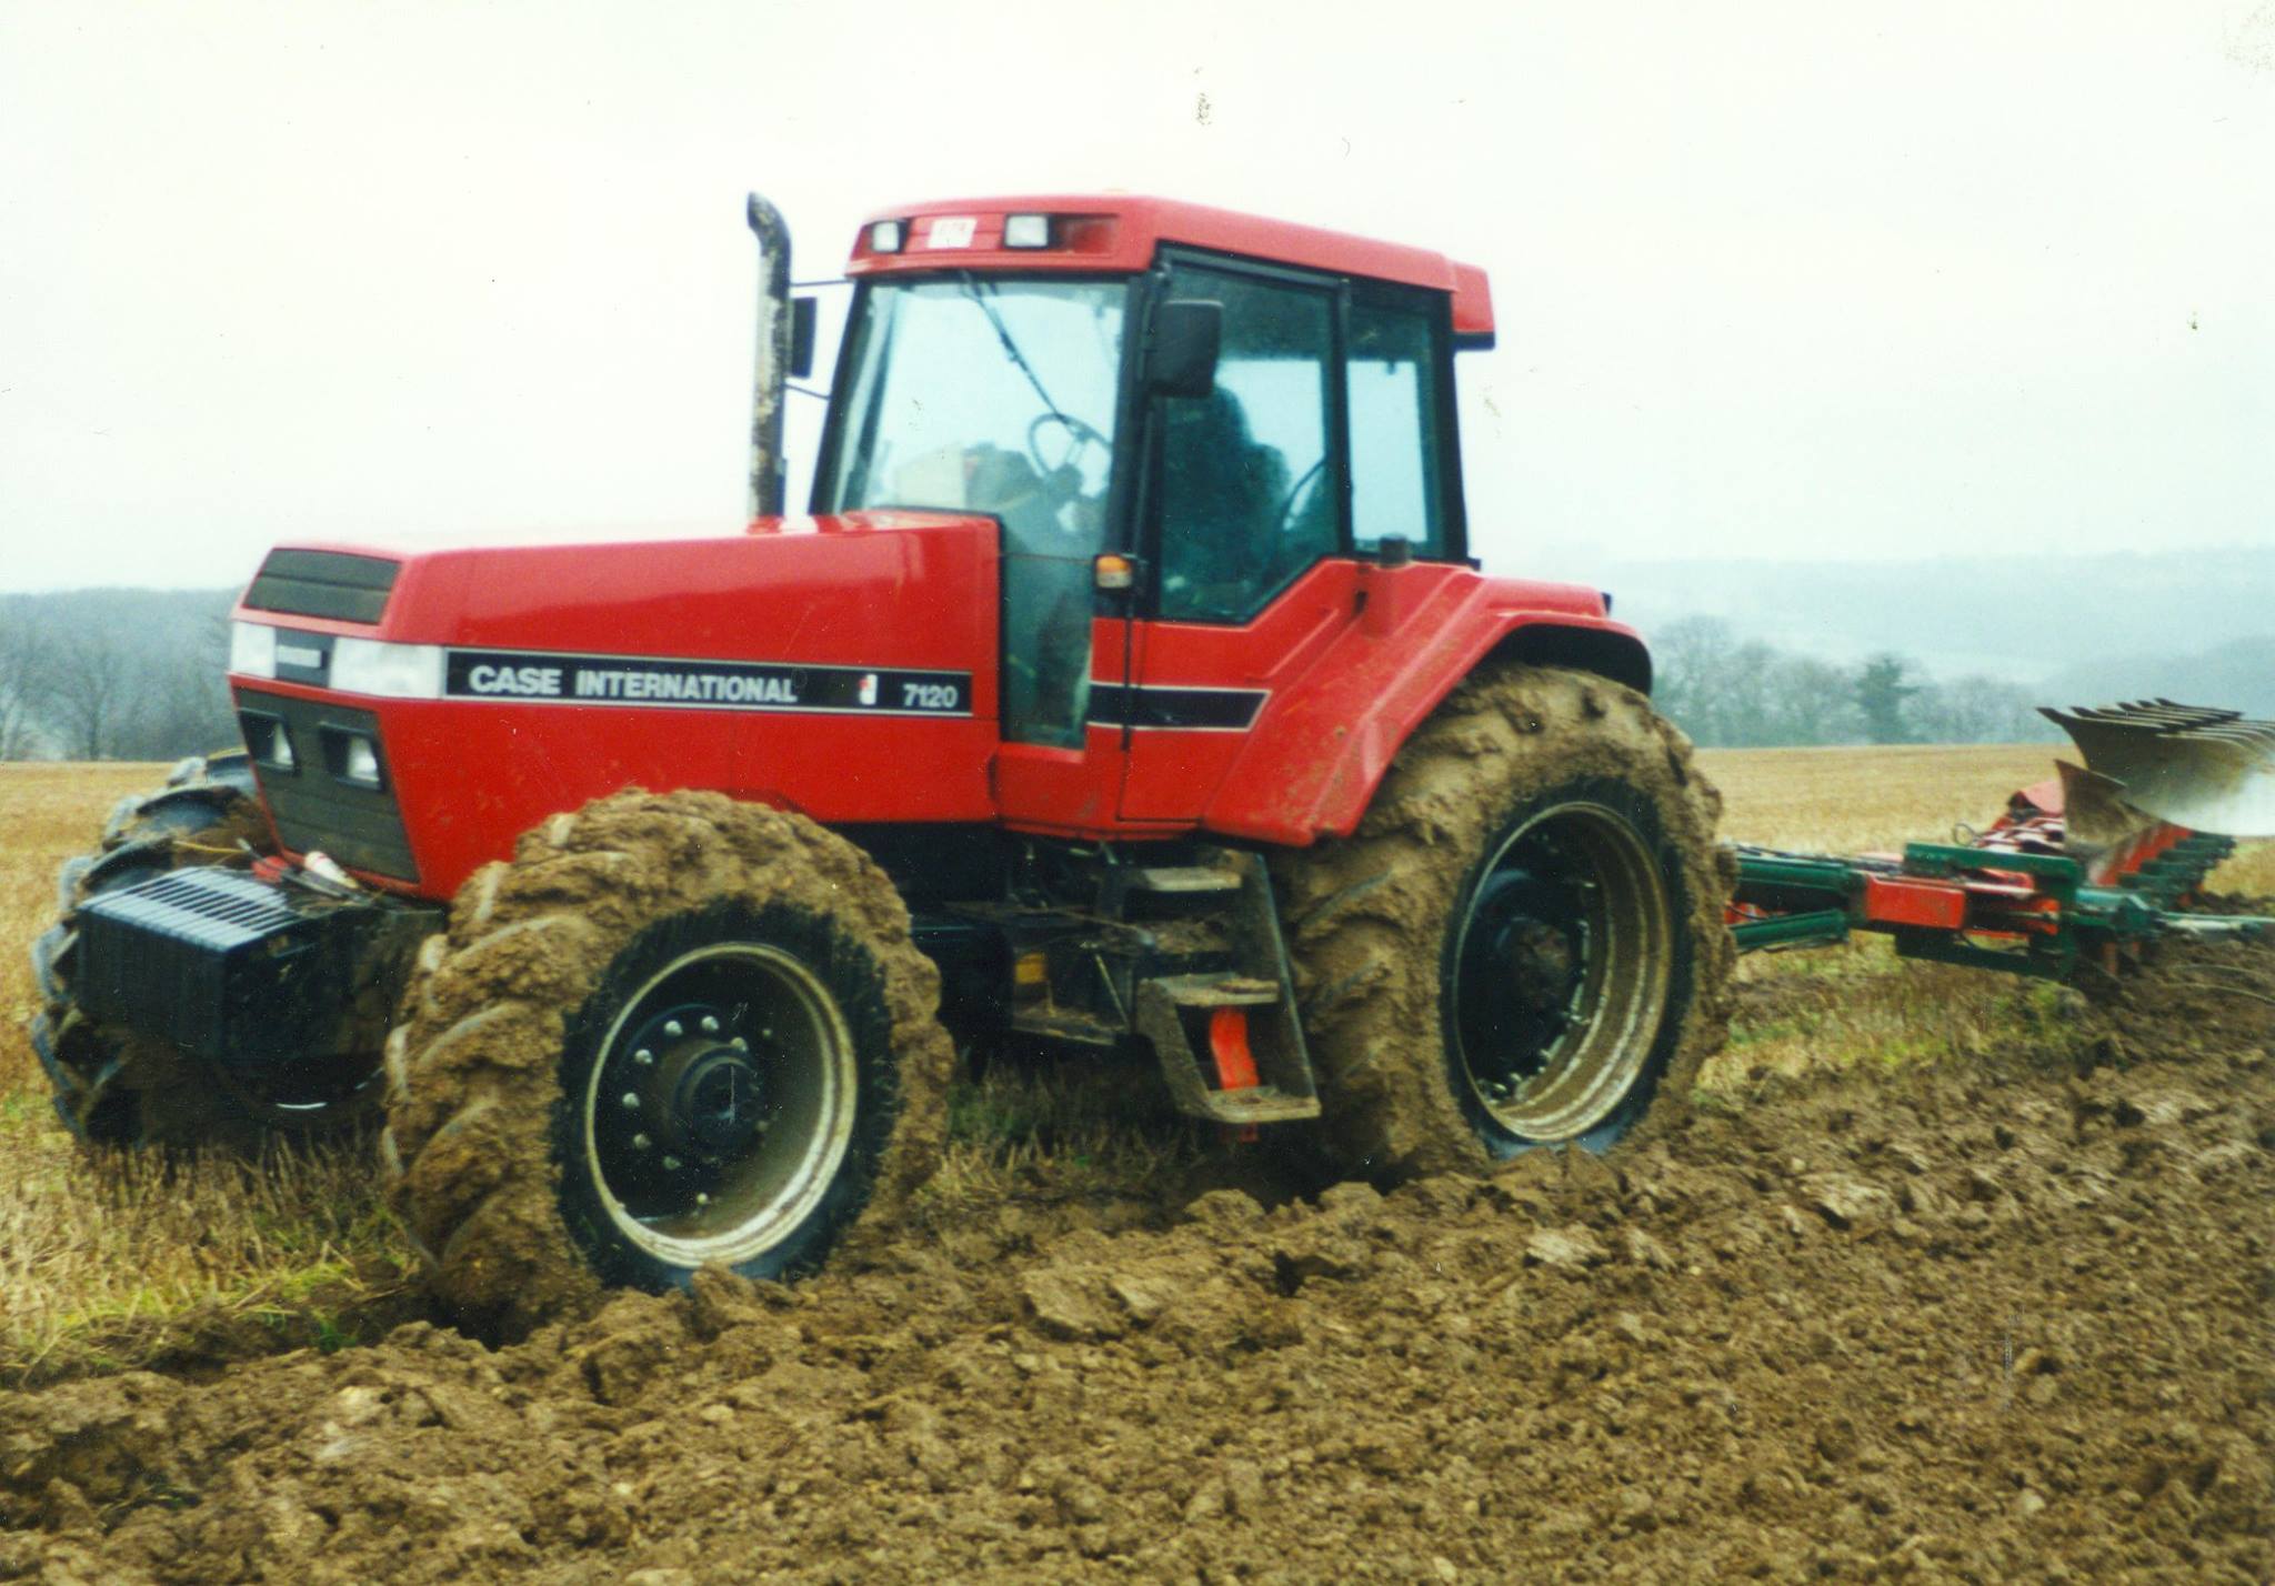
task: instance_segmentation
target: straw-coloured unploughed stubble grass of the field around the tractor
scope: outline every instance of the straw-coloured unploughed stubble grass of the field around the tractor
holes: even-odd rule
[[[1986,824],[2050,771],[2045,749],[1718,751],[1724,835],[1854,853]],[[412,1313],[412,1256],[378,1197],[369,1149],[273,1151],[257,1163],[86,1154],[55,1124],[30,1051],[30,942],[55,915],[55,869],[102,815],[164,767],[0,765],[0,1383],[339,1347]],[[2214,885],[2275,894],[2275,844]],[[1752,956],[1729,1051],[1699,1101],[1743,1106],[1759,1072],[1966,1058],[2041,1040],[2045,988],[1900,963],[1870,940]],[[1142,1065],[1042,1072],[999,1063],[951,1101],[946,1170],[928,1215],[1008,1201],[1158,1201],[1238,1174],[1242,1151],[1174,1117]]]

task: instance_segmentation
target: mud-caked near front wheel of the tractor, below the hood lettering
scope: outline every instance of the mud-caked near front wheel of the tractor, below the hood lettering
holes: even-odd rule
[[[817,1267],[940,1163],[940,974],[853,844],[626,792],[460,890],[387,1042],[382,1163],[437,1292],[519,1336],[603,1286]]]

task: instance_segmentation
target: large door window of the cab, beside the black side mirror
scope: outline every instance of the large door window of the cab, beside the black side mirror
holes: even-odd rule
[[[1335,553],[1326,291],[1181,266],[1172,296],[1224,305],[1210,396],[1163,400],[1160,614],[1247,621]]]

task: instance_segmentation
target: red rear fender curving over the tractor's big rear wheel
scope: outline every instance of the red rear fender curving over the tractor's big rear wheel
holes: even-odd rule
[[[1379,573],[1383,583],[1399,576]],[[1274,689],[1201,824],[1290,846],[1351,835],[1413,730],[1488,660],[1652,687],[1643,639],[1611,621],[1590,589],[1436,583],[1388,630],[1354,623],[1301,678]]]

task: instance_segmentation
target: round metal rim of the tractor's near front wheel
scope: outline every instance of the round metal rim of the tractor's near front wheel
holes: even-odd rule
[[[760,942],[703,947],[610,1024],[582,1097],[585,1167],[648,1256],[742,1265],[828,1195],[855,1083],[844,1013],[812,969]]]

